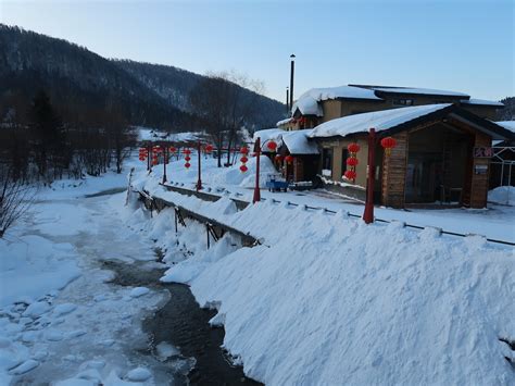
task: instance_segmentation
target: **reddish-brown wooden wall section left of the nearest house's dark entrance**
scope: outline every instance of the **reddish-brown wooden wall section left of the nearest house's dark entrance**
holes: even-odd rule
[[[407,132],[393,136],[397,146],[382,161],[381,201],[386,207],[404,208],[407,163]]]

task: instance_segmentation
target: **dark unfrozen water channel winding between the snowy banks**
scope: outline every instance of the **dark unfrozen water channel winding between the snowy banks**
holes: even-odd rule
[[[194,358],[194,366],[186,377],[174,378],[176,383],[191,385],[261,385],[248,378],[241,366],[230,363],[221,348],[224,328],[212,327],[209,321],[215,310],[201,309],[189,287],[184,284],[160,283],[163,270],[147,270],[137,264],[105,262],[105,267],[115,272],[113,284],[122,286],[146,286],[167,289],[169,300],[152,316],[143,321],[143,331],[151,337],[149,354],[160,343],[173,344],[186,358]]]

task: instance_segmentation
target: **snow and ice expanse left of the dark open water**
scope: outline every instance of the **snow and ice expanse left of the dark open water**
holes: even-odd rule
[[[154,266],[153,245],[121,221],[127,176],[64,180],[41,189],[0,239],[0,384],[161,384],[141,319],[166,291],[115,286],[104,261]],[[161,382],[160,382],[161,379]]]

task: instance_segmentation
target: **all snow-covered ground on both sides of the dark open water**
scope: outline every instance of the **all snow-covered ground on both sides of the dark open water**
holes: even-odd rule
[[[155,246],[168,266],[162,281],[189,284],[201,306],[218,310],[212,324],[225,326],[224,347],[258,381],[515,382],[504,358],[515,354],[499,340],[515,339],[514,249],[435,228],[513,241],[513,207],[381,208],[377,216],[398,222],[365,225],[348,216],[361,214],[360,203],[321,190],[263,189],[263,197],[280,202],[237,211],[229,198],[251,200],[254,160],[247,174],[239,164],[217,169],[214,160],[202,160],[205,189],[222,197],[216,202],[166,191],[159,185],[161,165],[148,175],[143,163],[134,164],[133,185],[249,232],[262,245],[241,248],[226,235],[208,249],[205,228],[194,222],[176,234],[172,210],[150,217],[134,194],[125,207],[126,194],[114,191],[127,186],[126,175],[59,182],[39,191],[29,215],[0,239],[0,384],[168,381],[139,352],[148,345],[141,320],[167,292],[115,286],[103,263],[154,269]],[[192,188],[196,162],[196,154],[190,170],[184,160],[172,162],[168,179]],[[263,159],[262,182],[273,172]],[[111,194],[95,196],[104,190]]]

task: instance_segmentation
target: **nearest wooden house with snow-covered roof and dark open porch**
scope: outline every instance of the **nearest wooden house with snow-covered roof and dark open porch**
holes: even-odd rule
[[[454,103],[413,105],[330,120],[310,138],[318,145],[318,175],[328,189],[365,198],[367,138],[377,132],[376,203],[393,208],[455,202],[485,208],[492,140],[513,133]],[[397,146],[387,155],[379,139],[391,136]],[[356,177],[343,177],[348,146],[360,145]]]

